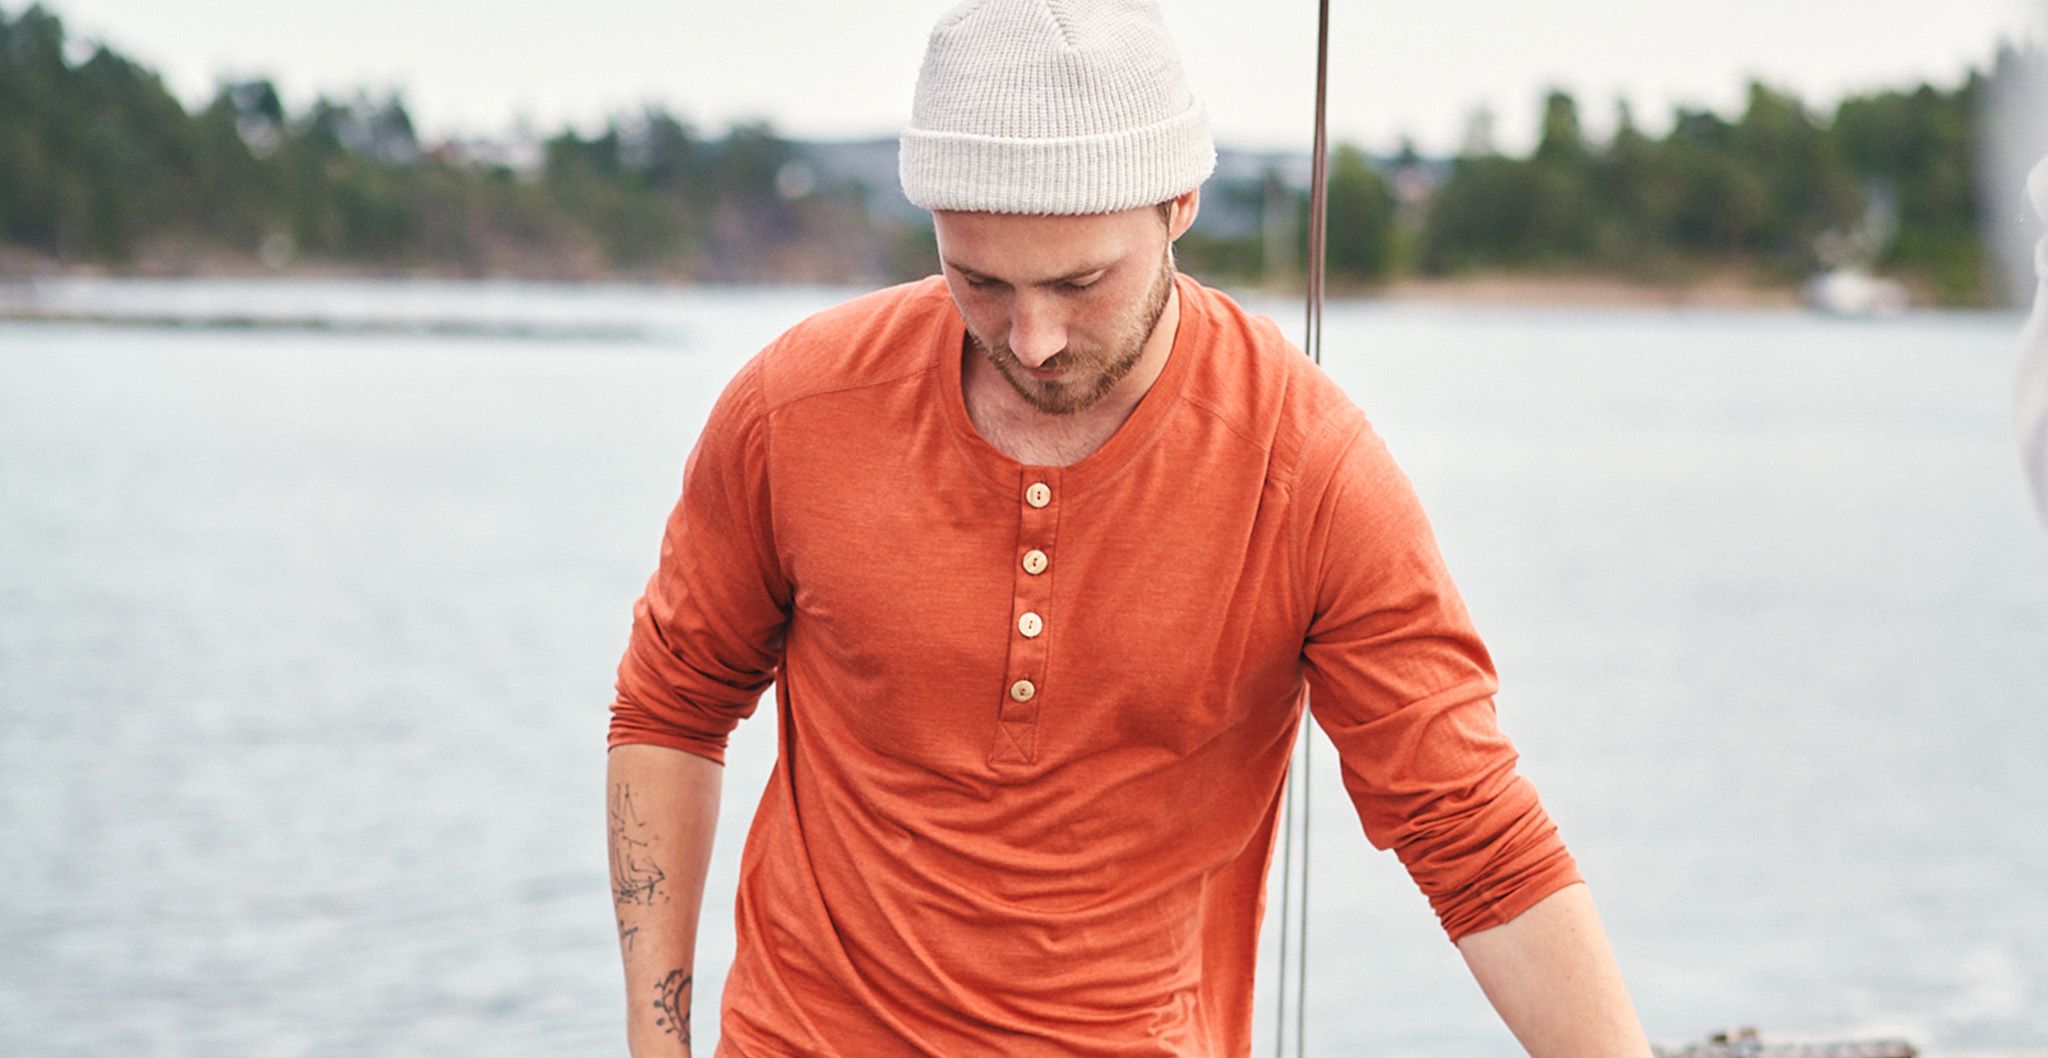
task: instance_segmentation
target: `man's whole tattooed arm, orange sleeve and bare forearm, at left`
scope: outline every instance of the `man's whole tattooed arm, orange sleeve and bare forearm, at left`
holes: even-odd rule
[[[760,360],[719,395],[633,606],[606,763],[612,900],[639,1058],[690,1054],[696,915],[731,729],[782,661],[793,589],[768,501]]]

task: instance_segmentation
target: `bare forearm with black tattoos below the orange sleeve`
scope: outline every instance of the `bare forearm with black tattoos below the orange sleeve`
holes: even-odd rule
[[[606,763],[612,907],[627,968],[635,1058],[690,1054],[696,915],[725,765],[659,745],[621,745]]]

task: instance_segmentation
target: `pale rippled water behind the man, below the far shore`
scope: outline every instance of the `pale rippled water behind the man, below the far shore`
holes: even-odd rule
[[[629,606],[725,377],[838,293],[29,297],[295,325],[0,323],[0,1056],[621,1054]],[[1331,309],[1653,1038],[2048,1050],[2017,325]],[[1518,1054],[1327,755],[1315,798],[1311,1052]]]

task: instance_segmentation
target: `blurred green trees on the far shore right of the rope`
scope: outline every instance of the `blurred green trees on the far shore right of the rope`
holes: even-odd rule
[[[1622,111],[1604,145],[1585,141],[1571,96],[1544,104],[1530,158],[1475,151],[1436,188],[1421,266],[1669,276],[1737,268],[1794,280],[1853,258],[1855,231],[1896,231],[1882,266],[1944,303],[1987,297],[1972,172],[1980,80],[1845,100],[1833,125],[1786,92],[1751,84],[1737,121],[1677,111],[1663,139]],[[1874,213],[1876,211],[1876,213]]]

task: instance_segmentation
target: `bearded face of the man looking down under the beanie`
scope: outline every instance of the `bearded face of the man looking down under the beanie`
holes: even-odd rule
[[[1145,356],[1174,284],[1176,231],[1157,209],[932,221],[969,340],[1038,411],[1094,407]]]

